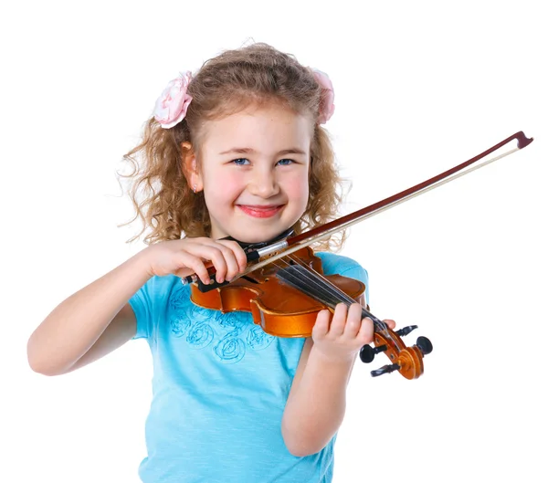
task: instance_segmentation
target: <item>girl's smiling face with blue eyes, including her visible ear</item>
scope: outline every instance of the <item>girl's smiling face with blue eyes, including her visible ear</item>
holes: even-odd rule
[[[203,129],[200,163],[187,158],[186,168],[204,190],[211,237],[253,243],[293,226],[308,204],[311,119],[268,104]]]

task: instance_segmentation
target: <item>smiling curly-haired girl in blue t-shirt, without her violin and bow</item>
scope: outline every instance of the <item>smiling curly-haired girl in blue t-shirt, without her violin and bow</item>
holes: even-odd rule
[[[311,338],[278,338],[248,312],[197,307],[181,278],[207,284],[213,265],[218,282],[230,280],[247,265],[237,241],[336,215],[340,178],[321,127],[333,97],[324,73],[264,44],[172,81],[125,156],[148,246],[59,304],[28,341],[30,366],[49,375],[148,341],[143,482],[332,481],[346,385],[373,338],[360,304],[322,310]],[[350,258],[317,254],[325,273],[367,283]]]

